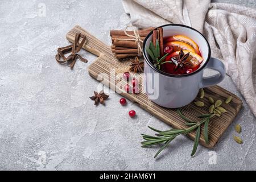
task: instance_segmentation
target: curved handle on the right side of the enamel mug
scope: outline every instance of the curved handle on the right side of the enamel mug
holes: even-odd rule
[[[214,69],[219,73],[213,76],[203,77],[200,83],[200,88],[216,85],[224,79],[226,74],[225,65],[217,58],[210,57],[210,60],[205,68]]]

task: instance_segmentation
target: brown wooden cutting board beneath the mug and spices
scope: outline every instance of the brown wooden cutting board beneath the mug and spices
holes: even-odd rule
[[[82,34],[86,35],[86,43],[82,48],[84,48],[86,51],[89,51],[93,53],[94,55],[98,56],[95,61],[93,61],[92,64],[89,65],[88,71],[90,76],[97,79],[98,75],[101,74],[101,79],[99,81],[104,82],[105,85],[108,85],[111,89],[115,89],[116,92],[120,93],[121,89],[119,86],[115,86],[116,84],[126,84],[124,80],[122,80],[122,74],[118,74],[118,72],[123,73],[127,69],[127,65],[130,64],[130,60],[127,61],[119,61],[115,58],[115,56],[112,53],[112,50],[110,46],[107,46],[106,44],[102,43],[100,40],[95,38],[92,34],[87,32],[86,30],[82,29],[79,26],[75,26],[71,31],[67,34],[67,39],[70,42],[74,42],[75,34],[77,32],[81,32]],[[115,70],[114,70],[115,69]],[[112,74],[112,77],[110,77],[110,72],[114,72]],[[105,73],[102,75],[102,73]],[[113,76],[114,75],[114,76]],[[118,78],[114,80],[114,77],[117,76]],[[143,90],[142,86],[142,77],[138,76],[138,79],[140,79],[140,92]],[[232,123],[233,119],[236,117],[238,111],[240,111],[242,106],[242,101],[240,98],[238,98],[233,93],[228,92],[228,90],[225,90],[224,88],[221,88],[220,86],[211,86],[209,88],[205,88],[205,97],[200,99],[197,97],[195,100],[204,101],[205,106],[204,107],[197,107],[193,104],[188,104],[187,106],[181,107],[182,113],[187,116],[189,119],[192,119],[193,121],[198,121],[199,118],[197,118],[201,114],[207,114],[208,108],[210,106],[208,102],[208,97],[212,97],[214,100],[222,100],[225,101],[225,99],[228,96],[233,96],[233,100],[229,105],[224,104],[224,107],[228,111],[227,113],[224,113],[221,115],[221,117],[214,117],[209,122],[209,144],[207,145],[204,142],[203,138],[203,130],[201,130],[201,137],[200,137],[200,144],[212,148],[220,139],[221,135],[224,133],[224,131],[228,128],[230,123]],[[166,122],[167,124],[171,125],[174,129],[184,129],[187,126],[185,126],[185,122],[183,119],[179,117],[179,115],[176,113],[175,109],[167,109],[164,107],[161,107],[159,105],[154,104],[154,102],[151,102],[148,100],[147,95],[144,94],[144,92],[139,94],[128,94],[128,93],[121,93],[123,97],[126,97],[132,102],[135,102],[138,104],[138,106],[142,107],[144,110],[146,110],[148,113],[154,115],[156,118],[159,118],[161,121]],[[139,113],[138,113],[139,114]],[[195,132],[190,133],[187,135],[189,138],[195,139]]]

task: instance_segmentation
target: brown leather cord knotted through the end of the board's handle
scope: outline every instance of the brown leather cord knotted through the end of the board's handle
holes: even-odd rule
[[[82,38],[81,43],[79,44],[79,39]],[[73,44],[66,46],[66,47],[60,47],[57,49],[57,54],[55,56],[55,59],[60,64],[70,63],[69,67],[73,69],[77,57],[84,63],[87,63],[88,60],[84,59],[82,56],[78,54],[82,46],[84,45],[86,40],[86,36],[80,33],[77,33],[75,36],[75,41]],[[68,57],[65,57],[64,55],[66,53],[71,53]]]

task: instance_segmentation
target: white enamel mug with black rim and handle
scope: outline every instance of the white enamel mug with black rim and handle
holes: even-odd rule
[[[182,107],[196,98],[200,88],[221,82],[225,77],[225,66],[220,60],[210,57],[209,43],[199,31],[181,24],[166,24],[161,27],[163,27],[163,36],[185,35],[194,40],[199,46],[204,59],[200,67],[192,73],[186,75],[168,74],[154,67],[146,51],[146,47],[152,41],[152,31],[144,40],[144,88],[148,98],[163,107]],[[205,68],[214,69],[218,73],[203,77]]]

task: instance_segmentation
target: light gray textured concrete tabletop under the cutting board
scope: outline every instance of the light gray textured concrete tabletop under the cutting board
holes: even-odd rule
[[[255,1],[218,1],[255,7]],[[42,13],[46,6],[46,14]],[[68,45],[65,34],[76,24],[110,44],[109,30],[129,24],[121,1],[1,1],[0,3],[0,169],[256,169],[256,119],[227,76],[220,84],[240,96],[241,112],[213,148],[217,164],[210,165],[210,150],[199,146],[190,157],[193,142],[180,136],[160,158],[158,147],[141,148],[147,125],[169,126],[134,104],[119,105],[110,94],[106,106],[89,99],[98,82],[86,68],[95,59],[77,61],[73,71],[55,61],[56,48]],[[137,111],[131,119],[128,111]],[[242,126],[237,144],[234,125]]]

